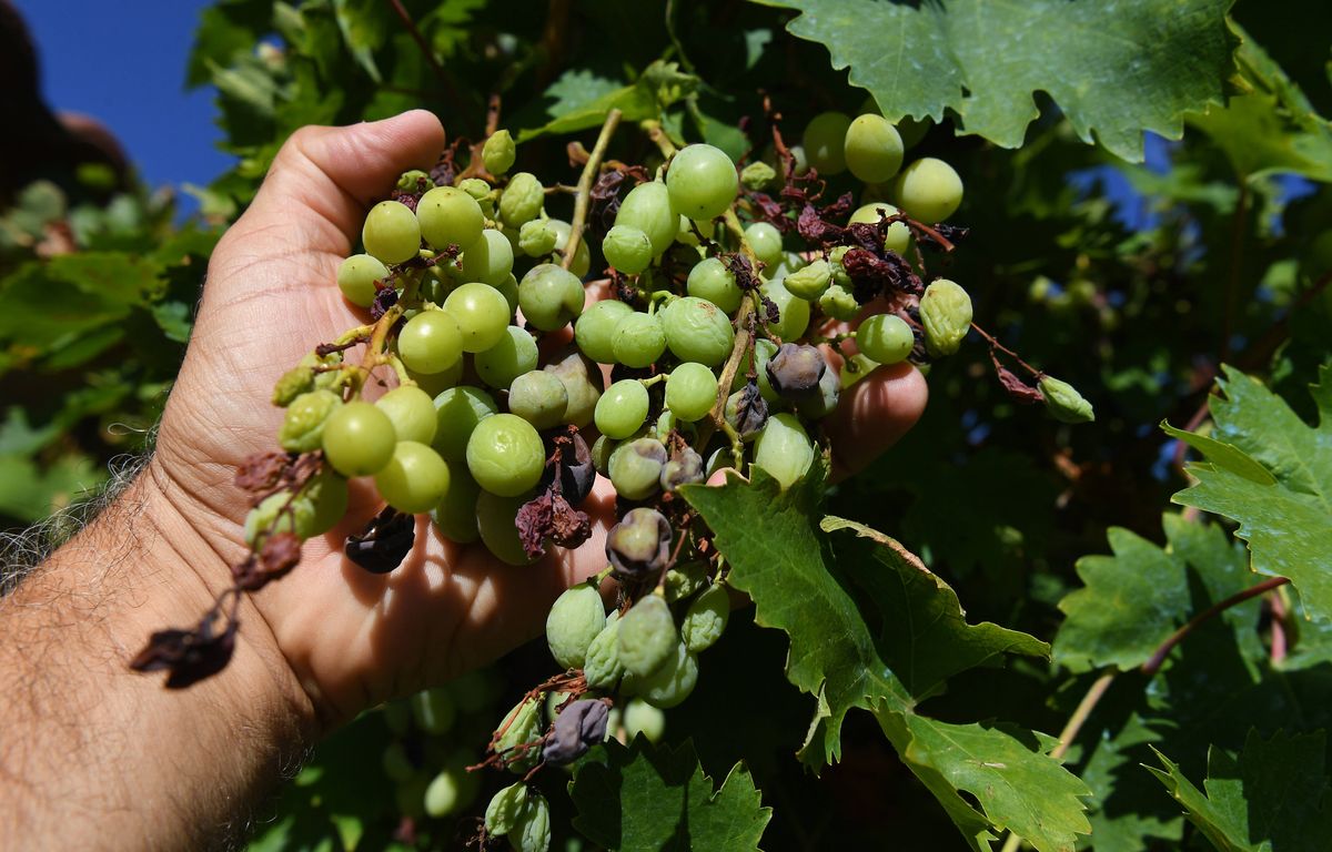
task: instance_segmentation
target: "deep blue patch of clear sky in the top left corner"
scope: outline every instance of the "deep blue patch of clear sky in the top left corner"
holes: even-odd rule
[[[152,186],[206,184],[230,158],[216,148],[210,89],[185,92],[185,59],[209,0],[15,0],[37,43],[57,110],[105,124]],[[181,202],[194,208],[188,196]]]

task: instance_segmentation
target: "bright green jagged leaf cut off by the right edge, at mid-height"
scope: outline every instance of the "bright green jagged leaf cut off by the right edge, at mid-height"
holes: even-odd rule
[[[1311,389],[1317,427],[1239,370],[1223,367],[1217,387],[1221,395],[1209,401],[1212,437],[1261,465],[1275,482],[1236,473],[1228,450],[1204,443],[1205,462],[1188,469],[1197,482],[1172,499],[1237,521],[1253,570],[1289,578],[1305,615],[1332,620],[1332,367],[1324,366]]]

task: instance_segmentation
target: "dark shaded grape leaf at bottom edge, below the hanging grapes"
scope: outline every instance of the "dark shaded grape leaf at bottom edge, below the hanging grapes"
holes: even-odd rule
[[[689,740],[673,749],[639,735],[629,747],[607,740],[602,751],[569,785],[574,828],[593,843],[623,852],[758,851],[773,811],[743,764],[714,789]]]

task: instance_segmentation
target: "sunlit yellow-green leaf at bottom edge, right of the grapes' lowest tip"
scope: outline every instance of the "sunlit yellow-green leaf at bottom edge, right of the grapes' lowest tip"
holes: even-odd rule
[[[1091,791],[1048,756],[1056,740],[1015,726],[950,724],[887,708],[875,712],[902,760],[971,841],[988,848],[1011,829],[1040,852],[1071,852],[1091,831]],[[979,812],[958,791],[971,793]]]

